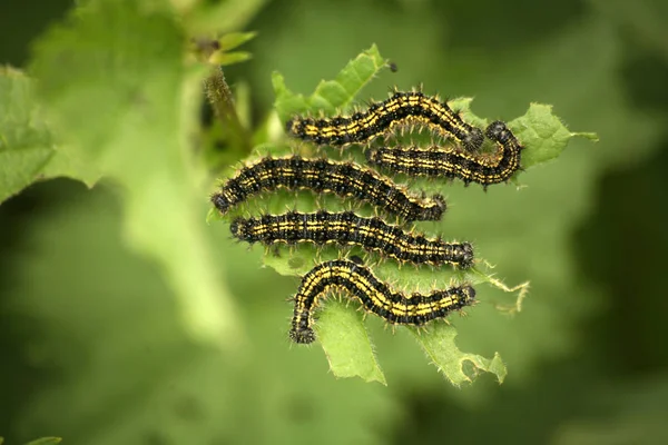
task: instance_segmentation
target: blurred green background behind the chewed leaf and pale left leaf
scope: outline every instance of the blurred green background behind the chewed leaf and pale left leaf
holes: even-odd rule
[[[29,43],[69,7],[2,1],[0,62],[24,66]],[[668,443],[668,2],[299,0],[247,10],[234,28],[259,32],[244,48],[254,58],[226,75],[248,83],[256,123],[273,103],[273,70],[310,93],[375,42],[399,70],[364,97],[422,82],[429,93],[475,97],[488,119],[511,120],[537,101],[573,131],[598,132],[599,144],[576,140],[520,176],[520,191],[445,190],[453,205],[440,229],[473,240],[508,283],[532,284],[514,318],[485,305],[508,296],[484,288],[483,304],[454,322],[463,350],[501,354],[505,383],[483,375],[453,388],[409,335],[376,320],[389,386],[334,378],[320,347],[286,339],[285,298],[298,281],[259,268],[261,249],[229,241],[222,222],[207,230],[247,339],[234,353],[203,346],[184,332],[159,267],[126,247],[115,186],[58,179],[0,206],[0,436]]]

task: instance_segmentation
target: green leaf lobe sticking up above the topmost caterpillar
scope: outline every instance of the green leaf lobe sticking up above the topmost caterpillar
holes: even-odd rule
[[[336,112],[348,106],[360,90],[386,66],[385,59],[381,57],[374,44],[351,60],[334,80],[321,81],[310,97],[289,91],[283,76],[274,72],[272,82],[276,95],[275,107],[278,117],[282,121],[286,121],[292,115],[307,111]]]

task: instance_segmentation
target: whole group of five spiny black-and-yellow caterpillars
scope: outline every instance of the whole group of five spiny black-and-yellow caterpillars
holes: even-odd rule
[[[420,148],[374,147],[371,144],[407,126],[426,128],[441,138],[451,139],[453,145]],[[484,188],[507,182],[521,169],[523,147],[504,122],[494,121],[484,130],[480,129],[465,122],[448,103],[420,91],[395,91],[389,99],[372,102],[365,111],[352,116],[327,119],[295,116],[285,128],[291,137],[318,146],[366,145],[366,160],[371,167],[324,157],[265,157],[240,168],[212,195],[212,202],[220,214],[227,214],[253,195],[283,188],[354,198],[409,222],[440,220],[445,210],[441,195],[415,195],[373,167],[409,177],[459,178],[466,185],[477,182]],[[497,146],[494,154],[480,152],[485,138]],[[321,209],[310,214],[289,211],[257,218],[239,217],[232,221],[230,230],[234,237],[249,244],[358,246],[400,263],[416,265],[450,265],[466,269],[474,260],[469,243],[429,238],[380,217],[367,218],[353,211]],[[332,289],[344,290],[360,300],[369,313],[396,325],[421,326],[475,301],[475,290],[468,284],[429,295],[404,294],[376,278],[356,256],[324,261],[304,275],[294,297],[292,340],[306,344],[315,340],[313,313],[318,299]]]

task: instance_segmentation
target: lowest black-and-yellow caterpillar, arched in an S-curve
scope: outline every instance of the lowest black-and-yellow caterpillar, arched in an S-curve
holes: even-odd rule
[[[421,326],[444,318],[454,310],[475,301],[475,289],[470,285],[434,290],[429,295],[406,295],[392,291],[358,261],[336,259],[315,266],[302,278],[295,295],[295,307],[289,338],[295,343],[313,343],[313,310],[318,299],[332,288],[346,290],[364,308],[396,325]]]

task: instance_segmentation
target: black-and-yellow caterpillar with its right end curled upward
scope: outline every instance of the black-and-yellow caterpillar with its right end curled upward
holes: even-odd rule
[[[485,129],[485,136],[498,146],[497,154],[487,158],[450,149],[420,149],[380,147],[366,151],[370,165],[409,176],[460,178],[465,185],[508,181],[521,168],[520,145],[504,122],[495,121]]]

